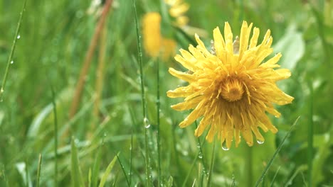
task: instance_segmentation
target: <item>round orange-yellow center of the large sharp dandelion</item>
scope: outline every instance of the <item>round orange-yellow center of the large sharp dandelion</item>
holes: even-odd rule
[[[243,94],[243,84],[238,79],[227,80],[221,86],[221,95],[226,101],[238,101]]]

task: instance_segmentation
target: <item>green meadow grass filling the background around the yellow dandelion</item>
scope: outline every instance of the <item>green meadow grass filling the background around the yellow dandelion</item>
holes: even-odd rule
[[[177,49],[194,34],[162,0],[108,2],[100,23],[89,0],[0,1],[0,186],[333,186],[332,1],[187,1],[206,46],[245,20],[292,72],[278,85],[295,100],[269,115],[279,132],[228,150],[178,127],[189,111],[170,108],[184,83],[168,68],[186,70],[147,55],[141,18],[160,12]]]

